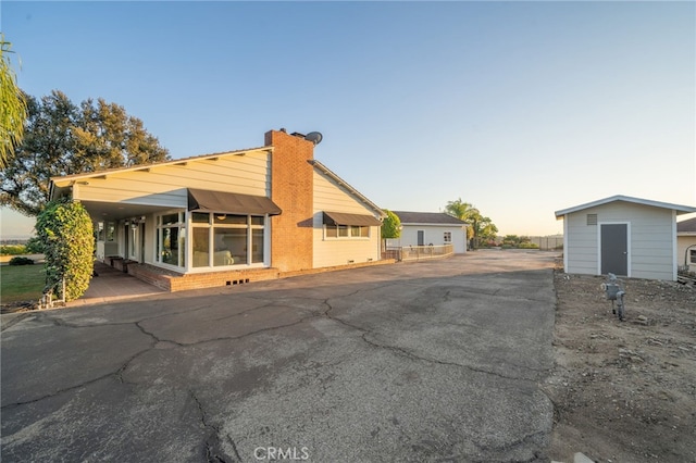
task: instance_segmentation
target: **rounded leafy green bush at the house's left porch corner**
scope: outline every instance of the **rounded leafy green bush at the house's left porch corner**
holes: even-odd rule
[[[60,292],[64,278],[65,301],[79,298],[94,271],[95,238],[89,213],[70,199],[51,201],[36,218],[36,232],[44,242],[47,290]]]

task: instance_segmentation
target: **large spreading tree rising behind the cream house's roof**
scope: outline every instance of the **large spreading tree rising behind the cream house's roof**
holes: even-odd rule
[[[37,215],[49,201],[51,177],[170,159],[142,122],[115,103],[76,105],[59,90],[26,101],[24,140],[0,174],[0,204],[25,215]]]

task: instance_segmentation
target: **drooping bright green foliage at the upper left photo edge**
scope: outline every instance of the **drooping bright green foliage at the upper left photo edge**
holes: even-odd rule
[[[14,149],[22,142],[26,101],[17,86],[9,53],[12,43],[0,34],[0,167],[4,168],[13,157]]]

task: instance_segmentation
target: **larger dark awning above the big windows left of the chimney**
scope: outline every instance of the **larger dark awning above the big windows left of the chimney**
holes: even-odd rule
[[[224,191],[188,189],[188,210],[240,215],[278,215],[282,211],[270,198]]]

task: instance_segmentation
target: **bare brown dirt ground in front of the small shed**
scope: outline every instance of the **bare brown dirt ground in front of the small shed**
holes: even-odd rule
[[[625,321],[604,277],[555,274],[557,365],[549,456],[696,462],[696,288],[624,279]]]

